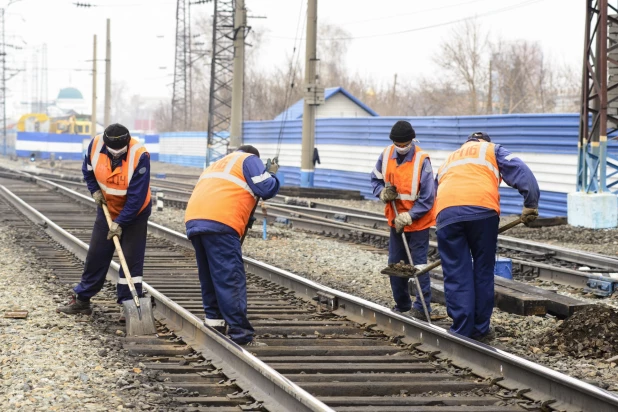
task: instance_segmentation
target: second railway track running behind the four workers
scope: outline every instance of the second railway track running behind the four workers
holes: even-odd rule
[[[43,174],[48,178],[48,174]],[[176,175],[174,175],[176,176]],[[186,175],[179,178],[188,179]],[[191,176],[195,178],[195,176]],[[58,181],[57,177],[49,177]],[[60,179],[84,190],[83,183],[77,186],[81,177],[71,177],[72,182]],[[186,208],[194,181],[183,183],[152,179],[153,192],[164,193],[167,206]],[[155,198],[155,196],[153,196]],[[269,223],[281,222],[295,229],[318,235],[352,241],[366,247],[385,250],[388,248],[389,227],[380,213],[355,210],[324,202],[276,196],[265,202],[265,208],[256,210],[257,218],[266,218]],[[435,228],[431,229],[430,259],[437,258]],[[582,252],[510,236],[498,236],[498,254],[509,257],[513,262],[513,275],[518,279],[541,279],[561,285],[587,289],[606,296],[607,288],[618,281],[612,278],[618,273],[618,259],[605,255]],[[586,267],[585,271],[579,270]],[[594,286],[591,286],[594,285]],[[596,290],[595,290],[596,288]]]

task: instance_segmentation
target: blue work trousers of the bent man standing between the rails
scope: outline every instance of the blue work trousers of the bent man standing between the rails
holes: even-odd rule
[[[247,278],[240,238],[232,234],[202,234],[192,236],[191,243],[206,318],[225,319],[234,342],[250,342],[254,330],[247,319]]]

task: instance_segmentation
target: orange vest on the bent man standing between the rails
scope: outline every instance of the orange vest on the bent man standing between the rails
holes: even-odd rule
[[[230,153],[204,170],[187,204],[185,223],[196,219],[213,220],[236,230],[239,236],[245,233],[255,206],[255,195],[242,171],[249,156],[255,155]]]

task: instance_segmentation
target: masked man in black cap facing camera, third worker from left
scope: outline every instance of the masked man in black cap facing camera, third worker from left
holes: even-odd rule
[[[385,203],[384,213],[391,226],[388,263],[408,262],[401,233],[404,232],[414,265],[427,263],[429,228],[435,224],[433,170],[429,155],[415,143],[416,133],[409,122],[400,120],[391,129],[388,146],[371,172],[373,194]],[[386,185],[386,183],[390,183]],[[395,217],[392,201],[399,216]],[[427,310],[431,312],[429,274],[418,277]],[[408,291],[408,280],[390,277],[395,306],[393,311],[426,320],[420,296],[414,305]]]

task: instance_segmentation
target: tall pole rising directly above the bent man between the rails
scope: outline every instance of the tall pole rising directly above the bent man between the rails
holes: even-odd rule
[[[233,152],[242,146],[243,86],[245,78],[245,27],[247,14],[245,0],[236,0],[234,12],[234,72],[232,83],[232,116],[230,121],[230,146]]]

